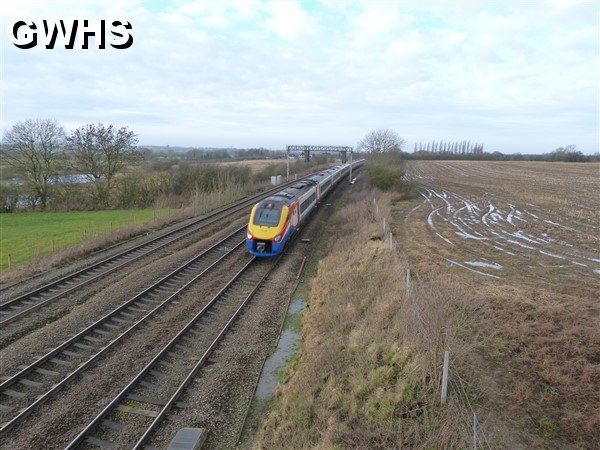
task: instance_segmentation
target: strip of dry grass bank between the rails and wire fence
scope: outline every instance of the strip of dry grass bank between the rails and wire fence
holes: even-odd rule
[[[382,228],[392,198],[361,180],[336,213],[301,349],[255,447],[467,445],[454,406],[439,405],[442,352],[462,347],[464,306],[453,284],[415,280],[406,292],[402,249],[390,250]]]

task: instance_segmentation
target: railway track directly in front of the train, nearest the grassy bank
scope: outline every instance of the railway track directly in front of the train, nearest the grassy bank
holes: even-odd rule
[[[173,409],[186,407],[177,402],[178,398],[208,362],[277,261],[252,257],[67,449],[141,448]]]

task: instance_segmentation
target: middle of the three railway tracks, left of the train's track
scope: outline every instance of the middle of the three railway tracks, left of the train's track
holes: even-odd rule
[[[241,227],[124,302],[35,362],[0,382],[0,436],[114,348],[150,322],[192,283],[226,258],[244,254]]]

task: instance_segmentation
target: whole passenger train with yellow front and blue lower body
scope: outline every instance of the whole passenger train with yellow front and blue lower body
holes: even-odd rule
[[[362,160],[352,163],[353,168]],[[260,201],[252,208],[246,247],[254,256],[279,255],[314,208],[350,171],[342,164],[305,178]]]

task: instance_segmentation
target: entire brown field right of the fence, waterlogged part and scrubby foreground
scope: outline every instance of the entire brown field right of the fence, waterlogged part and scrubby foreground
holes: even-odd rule
[[[407,163],[419,198],[396,207],[398,241],[417,274],[450,272],[477,304],[476,356],[461,370],[501,446],[600,440],[599,175],[598,164]]]

